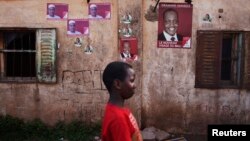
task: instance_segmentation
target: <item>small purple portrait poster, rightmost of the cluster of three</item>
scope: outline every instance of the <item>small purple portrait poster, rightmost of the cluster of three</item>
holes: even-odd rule
[[[104,20],[111,18],[110,3],[89,3],[89,19]]]

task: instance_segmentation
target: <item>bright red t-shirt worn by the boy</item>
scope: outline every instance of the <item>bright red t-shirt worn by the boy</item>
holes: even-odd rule
[[[102,141],[142,141],[136,119],[129,109],[110,103],[106,105]]]

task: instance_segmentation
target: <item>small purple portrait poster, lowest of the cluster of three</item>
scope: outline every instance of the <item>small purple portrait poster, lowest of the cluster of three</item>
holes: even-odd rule
[[[89,21],[84,19],[68,19],[68,36],[89,35]]]

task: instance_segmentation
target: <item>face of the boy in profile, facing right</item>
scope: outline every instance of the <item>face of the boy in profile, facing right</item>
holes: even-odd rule
[[[127,70],[128,74],[122,82],[121,96],[123,99],[129,99],[135,93],[135,71],[132,68]]]

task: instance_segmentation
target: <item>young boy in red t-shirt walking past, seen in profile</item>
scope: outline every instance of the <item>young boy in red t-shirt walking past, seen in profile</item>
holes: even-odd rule
[[[102,141],[142,141],[137,122],[124,101],[135,91],[135,72],[124,62],[112,62],[103,72],[109,101],[102,124]]]

